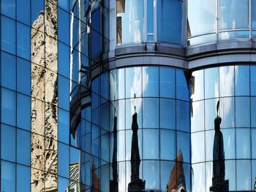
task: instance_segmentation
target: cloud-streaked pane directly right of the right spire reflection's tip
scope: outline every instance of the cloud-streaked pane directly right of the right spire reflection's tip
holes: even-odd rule
[[[219,116],[222,118],[221,128],[235,126],[235,101],[234,98],[219,99]]]

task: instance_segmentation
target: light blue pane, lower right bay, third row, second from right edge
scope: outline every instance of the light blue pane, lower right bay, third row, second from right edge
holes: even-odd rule
[[[249,128],[236,129],[236,158],[251,158],[250,140]]]

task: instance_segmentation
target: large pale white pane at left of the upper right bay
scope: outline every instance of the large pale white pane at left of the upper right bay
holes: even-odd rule
[[[200,11],[198,11],[200,10]],[[216,1],[188,1],[188,37],[216,31]]]

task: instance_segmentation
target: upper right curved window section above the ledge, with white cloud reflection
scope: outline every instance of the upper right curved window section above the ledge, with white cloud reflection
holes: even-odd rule
[[[187,45],[254,38],[255,6],[254,0],[189,0]]]

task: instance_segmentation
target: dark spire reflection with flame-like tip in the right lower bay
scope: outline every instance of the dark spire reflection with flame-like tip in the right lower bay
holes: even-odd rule
[[[217,118],[214,120],[214,150],[213,150],[213,177],[210,191],[228,191],[229,180],[225,180],[225,153],[223,145],[223,135],[220,131],[220,123],[222,118],[218,115],[219,101],[217,103]]]

